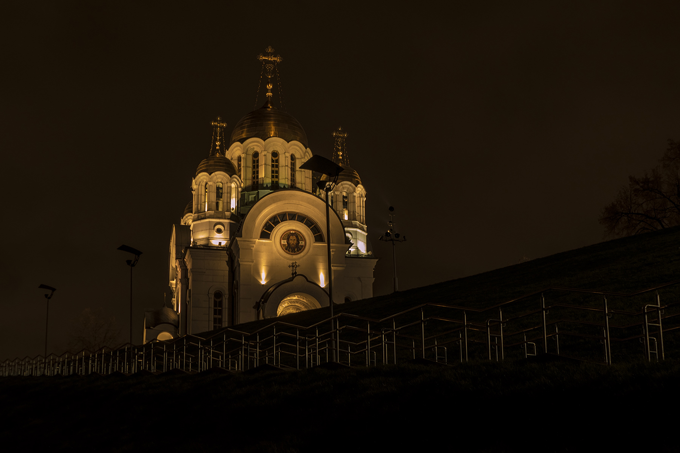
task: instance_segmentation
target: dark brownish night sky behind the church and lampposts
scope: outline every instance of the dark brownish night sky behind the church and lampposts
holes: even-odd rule
[[[600,209],[680,139],[677,2],[24,3],[0,12],[0,359],[42,352],[41,283],[58,288],[48,349],[85,307],[126,337],[120,244],[143,251],[141,341],[209,123],[253,110],[270,45],[311,151],[350,134],[375,295],[389,205],[400,289],[460,278],[602,241]]]

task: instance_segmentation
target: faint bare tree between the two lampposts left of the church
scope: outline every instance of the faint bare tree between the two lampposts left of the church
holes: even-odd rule
[[[98,310],[84,309],[72,324],[69,348],[73,352],[114,349],[122,343],[116,318],[107,316],[101,307]]]

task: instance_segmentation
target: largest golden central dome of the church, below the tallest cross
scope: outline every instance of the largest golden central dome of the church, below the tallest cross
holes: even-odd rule
[[[288,142],[296,140],[307,148],[307,134],[298,120],[273,107],[269,99],[262,108],[253,110],[236,123],[229,146],[237,141],[243,143],[245,139],[253,137],[262,140],[280,137]]]

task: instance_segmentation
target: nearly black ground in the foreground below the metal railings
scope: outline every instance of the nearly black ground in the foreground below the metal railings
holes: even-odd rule
[[[4,377],[0,432],[53,451],[677,451],[679,377],[673,360]]]

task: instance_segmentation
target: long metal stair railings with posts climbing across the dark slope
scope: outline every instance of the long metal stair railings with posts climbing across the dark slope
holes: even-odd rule
[[[228,328],[206,337],[185,335],[116,350],[5,360],[0,375],[106,375],[175,369],[200,373],[215,367],[246,371],[266,364],[302,369],[329,362],[333,356],[331,334],[335,335],[338,362],[352,367],[415,358],[439,363],[503,361],[537,354],[606,364],[615,359],[664,360],[664,340],[680,329],[680,302],[662,305],[659,290],[665,289],[668,299],[678,299],[679,283],[630,294],[545,288],[485,309],[422,303],[381,319],[339,313],[333,331],[328,329],[330,319],[311,326],[272,320],[252,332]],[[547,293],[554,295],[550,305]],[[653,295],[653,303],[649,303],[649,295]],[[639,299],[641,309],[616,309],[611,302],[614,299],[630,299],[626,307]],[[619,305],[623,304],[619,301]],[[617,322],[610,321],[613,316]]]

